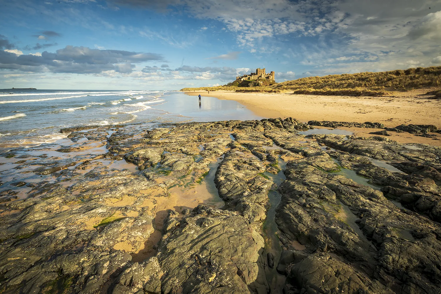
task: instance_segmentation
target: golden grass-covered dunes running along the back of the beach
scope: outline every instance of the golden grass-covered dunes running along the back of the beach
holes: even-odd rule
[[[236,90],[236,92],[291,92],[316,95],[380,96],[389,91],[441,86],[441,67],[418,67],[407,70],[332,74],[323,77],[299,78],[273,86],[239,88],[218,86],[184,88],[183,90]],[[216,88],[216,89],[214,89]],[[439,95],[434,93],[435,96]]]

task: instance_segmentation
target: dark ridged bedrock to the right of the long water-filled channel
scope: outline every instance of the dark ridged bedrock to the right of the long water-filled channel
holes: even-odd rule
[[[439,197],[439,186],[431,179],[437,177],[436,168],[415,163],[424,159],[435,161],[439,148],[409,150],[394,141],[375,138],[341,140],[342,136],[332,135],[315,135],[315,138],[357,155],[333,151],[288,163],[287,180],[279,186],[282,200],[276,219],[287,238],[284,245],[288,250],[282,253],[278,266],[288,274],[287,291],[438,293],[439,223],[397,208],[381,191],[335,171],[340,170],[341,164],[371,179],[378,189],[383,186],[382,191],[401,183],[407,190],[425,190],[432,197]],[[382,154],[378,149],[385,150],[384,156],[391,159],[390,164],[403,158],[414,162],[407,163],[410,166],[407,170],[403,164],[394,164],[405,172],[389,171],[371,164],[372,159],[365,157]],[[338,159],[337,162],[329,155]],[[412,175],[419,171],[422,171],[419,175]],[[430,216],[438,221],[433,213]],[[295,250],[299,247],[296,242],[306,248]]]

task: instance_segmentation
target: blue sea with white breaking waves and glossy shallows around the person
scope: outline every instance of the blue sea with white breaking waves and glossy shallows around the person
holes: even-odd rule
[[[52,143],[79,125],[262,119],[243,105],[179,91],[0,90],[0,148]]]

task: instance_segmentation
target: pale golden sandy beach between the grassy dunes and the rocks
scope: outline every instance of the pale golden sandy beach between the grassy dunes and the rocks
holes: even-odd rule
[[[427,89],[397,92],[393,97],[320,96],[291,93],[236,93],[233,91],[187,91],[187,95],[235,100],[256,115],[267,118],[293,117],[301,122],[329,120],[364,123],[379,122],[385,127],[400,124],[433,124],[441,127],[441,100],[424,95]],[[240,119],[240,118],[238,118]],[[317,127],[320,128],[320,127]],[[345,128],[357,136],[371,137],[373,129]],[[441,146],[440,140],[408,133],[390,132],[387,137],[400,143],[421,143]]]

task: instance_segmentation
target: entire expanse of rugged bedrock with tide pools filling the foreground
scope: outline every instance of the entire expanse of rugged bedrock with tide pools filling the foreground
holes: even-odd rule
[[[308,128],[75,127],[1,151],[0,293],[439,293],[441,148]]]

